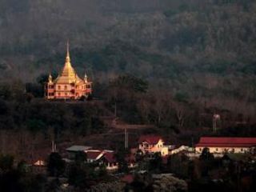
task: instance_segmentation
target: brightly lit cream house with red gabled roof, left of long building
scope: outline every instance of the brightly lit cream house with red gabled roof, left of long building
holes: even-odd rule
[[[138,140],[138,150],[142,150],[143,154],[161,153],[162,156],[169,154],[169,147],[165,146],[163,139],[156,135],[142,135]]]

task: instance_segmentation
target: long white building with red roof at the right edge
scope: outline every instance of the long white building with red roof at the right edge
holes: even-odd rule
[[[226,138],[202,137],[195,146],[195,151],[201,153],[203,148],[209,148],[210,153],[247,153],[256,148],[256,138]]]

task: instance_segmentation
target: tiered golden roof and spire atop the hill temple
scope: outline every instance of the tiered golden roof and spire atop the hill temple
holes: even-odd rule
[[[63,67],[62,74],[58,75],[58,78],[56,78],[54,82],[60,84],[82,82],[82,79],[78,77],[78,74],[75,73],[74,68],[71,65],[69,43],[67,43],[66,46],[66,62]]]

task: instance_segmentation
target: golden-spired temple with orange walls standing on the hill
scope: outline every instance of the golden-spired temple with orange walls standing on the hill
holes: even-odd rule
[[[88,97],[91,92],[91,85],[85,74],[85,77],[79,78],[74,71],[70,62],[69,43],[66,46],[66,62],[62,70],[62,74],[58,78],[53,79],[49,75],[48,82],[45,87],[45,97],[47,99],[79,99]]]

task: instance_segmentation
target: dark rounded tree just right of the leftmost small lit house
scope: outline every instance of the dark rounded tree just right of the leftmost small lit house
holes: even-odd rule
[[[50,154],[47,162],[47,170],[50,176],[58,177],[64,173],[65,167],[65,162],[62,160],[62,156],[60,154],[57,152]]]

